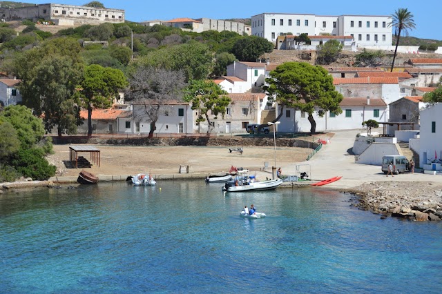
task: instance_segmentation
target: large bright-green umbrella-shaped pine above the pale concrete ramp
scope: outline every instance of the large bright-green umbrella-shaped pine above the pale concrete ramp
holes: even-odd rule
[[[343,95],[336,92],[333,86],[333,77],[321,66],[311,66],[305,62],[282,63],[272,70],[266,79],[269,86],[265,86],[269,101],[277,101],[281,109],[278,121],[282,116],[285,106],[299,109],[309,114],[311,124],[310,132],[316,132],[316,121],[313,113],[318,111],[323,115],[324,111],[342,113],[339,107]]]

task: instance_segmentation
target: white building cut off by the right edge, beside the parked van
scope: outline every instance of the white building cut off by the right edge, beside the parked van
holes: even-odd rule
[[[442,153],[442,104],[421,110],[419,166],[441,159]],[[425,167],[424,167],[425,168]]]

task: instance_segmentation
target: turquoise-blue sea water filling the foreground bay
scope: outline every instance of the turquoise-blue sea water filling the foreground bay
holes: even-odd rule
[[[442,292],[441,223],[382,220],[323,188],[221,187],[0,195],[0,293]],[[246,204],[267,217],[241,218]]]

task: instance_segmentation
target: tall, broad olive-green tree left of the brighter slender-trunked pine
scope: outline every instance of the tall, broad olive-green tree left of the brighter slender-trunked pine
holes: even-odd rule
[[[37,115],[44,114],[45,129],[51,132],[57,127],[57,134],[61,137],[64,129],[69,135],[77,133],[79,108],[73,99],[75,86],[81,77],[82,66],[74,63],[69,57],[48,57],[36,69],[36,75],[30,81],[32,100],[39,106],[34,111]],[[37,102],[39,101],[39,102]],[[72,107],[65,107],[66,104]]]

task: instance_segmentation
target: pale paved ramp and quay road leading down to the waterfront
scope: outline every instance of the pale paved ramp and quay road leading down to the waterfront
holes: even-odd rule
[[[336,131],[330,144],[323,145],[323,148],[309,161],[296,164],[308,164],[303,169],[311,169],[311,179],[329,179],[330,177],[342,175],[342,179],[332,184],[330,188],[352,188],[365,182],[442,182],[441,175],[424,175],[423,173],[399,174],[394,177],[385,177],[381,172],[381,166],[367,164],[355,164],[354,155],[349,154],[353,147],[354,138],[360,130]],[[296,175],[296,164],[282,165],[286,174]],[[287,170],[287,172],[285,172]]]

